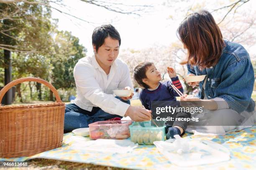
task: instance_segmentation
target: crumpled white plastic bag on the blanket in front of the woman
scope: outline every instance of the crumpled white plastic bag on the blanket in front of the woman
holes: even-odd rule
[[[230,160],[230,152],[224,146],[210,140],[178,138],[170,143],[155,141],[157,150],[178,166],[189,167]]]

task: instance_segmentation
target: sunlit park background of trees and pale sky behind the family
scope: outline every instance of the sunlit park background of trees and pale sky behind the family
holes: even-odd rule
[[[168,66],[181,78],[187,68],[179,62],[187,52],[176,29],[188,14],[201,9],[212,13],[225,39],[248,50],[255,72],[255,6],[256,0],[0,0],[0,87],[21,77],[40,77],[54,85],[62,101],[69,102],[76,95],[74,65],[93,55],[92,31],[102,24],[112,24],[120,33],[118,58],[128,64],[131,77],[138,63],[151,61],[163,80],[169,80]],[[185,82],[182,85],[186,93],[195,90]],[[48,87],[36,82],[16,85],[12,93],[15,97],[9,104],[55,100]],[[256,99],[256,92],[252,97]],[[32,162],[37,166],[40,161]]]

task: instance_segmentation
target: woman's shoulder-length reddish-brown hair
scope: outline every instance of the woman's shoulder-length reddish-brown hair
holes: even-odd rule
[[[225,46],[220,28],[206,10],[188,15],[179,25],[177,36],[187,48],[187,59],[181,64],[200,68],[216,65]]]

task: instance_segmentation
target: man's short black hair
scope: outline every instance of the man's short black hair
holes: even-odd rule
[[[100,27],[96,27],[92,33],[92,45],[95,45],[96,52],[98,51],[99,47],[104,44],[105,38],[107,37],[118,40],[119,46],[121,45],[121,38],[115,27],[110,24],[101,25]]]

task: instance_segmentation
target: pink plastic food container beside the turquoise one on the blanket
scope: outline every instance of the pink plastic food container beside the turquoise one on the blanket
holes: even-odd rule
[[[131,120],[99,121],[89,124],[91,139],[126,139]]]

